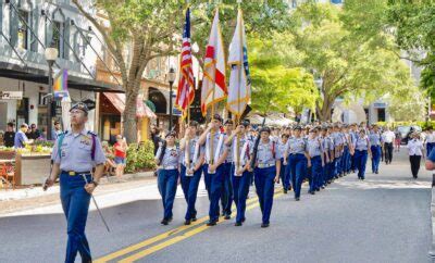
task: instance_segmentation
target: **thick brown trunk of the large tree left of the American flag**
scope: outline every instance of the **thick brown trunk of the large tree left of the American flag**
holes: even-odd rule
[[[124,136],[128,143],[137,142],[136,101],[138,91],[134,84],[128,84],[125,89]]]

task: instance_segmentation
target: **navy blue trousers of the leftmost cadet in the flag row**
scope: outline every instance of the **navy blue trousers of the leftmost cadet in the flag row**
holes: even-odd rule
[[[177,188],[178,170],[159,170],[157,184],[163,202],[163,218],[172,218],[172,206]]]

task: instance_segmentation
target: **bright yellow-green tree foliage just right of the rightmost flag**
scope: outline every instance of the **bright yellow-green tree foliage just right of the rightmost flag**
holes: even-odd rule
[[[269,40],[250,39],[250,68],[252,77],[252,102],[256,112],[265,115],[270,112],[296,113],[303,108],[314,109],[319,90],[313,76],[301,67],[286,66],[285,42],[277,41],[284,35],[274,34]],[[291,50],[291,49],[289,49]],[[296,53],[296,52],[295,52]],[[294,57],[293,60],[297,58]]]

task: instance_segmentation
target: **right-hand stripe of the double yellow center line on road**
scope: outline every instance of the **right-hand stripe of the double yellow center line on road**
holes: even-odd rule
[[[283,192],[275,191],[274,198],[278,198],[278,197],[281,197],[283,195],[284,195]],[[260,205],[259,203],[252,203],[251,202],[251,204],[246,208],[246,211],[249,211],[249,210],[252,210],[254,208],[258,208],[259,205]],[[223,222],[225,222],[225,221],[220,221],[220,222],[217,222],[217,224],[221,224]],[[125,258],[125,259],[123,259],[123,260],[121,260],[119,262],[120,263],[129,263],[129,262],[134,262],[134,261],[140,260],[140,259],[144,259],[147,255],[150,255],[150,254],[152,254],[152,253],[154,253],[157,251],[160,251],[160,250],[162,250],[162,249],[164,249],[166,247],[170,247],[170,246],[172,246],[174,243],[183,241],[183,240],[185,240],[185,239],[187,239],[189,237],[192,237],[192,236],[195,236],[195,235],[197,235],[199,233],[202,233],[202,231],[204,231],[204,230],[207,230],[209,228],[210,228],[210,226],[202,225],[200,227],[197,227],[195,229],[186,231],[186,233],[184,233],[182,235],[175,236],[175,237],[173,237],[173,238],[171,238],[171,239],[169,239],[169,240],[166,240],[164,242],[161,242],[159,245],[156,245],[156,246],[152,246],[150,248],[147,248],[147,249],[145,249],[145,250],[138,252],[138,253],[132,254],[132,255],[129,255],[129,256],[127,256],[127,258]]]

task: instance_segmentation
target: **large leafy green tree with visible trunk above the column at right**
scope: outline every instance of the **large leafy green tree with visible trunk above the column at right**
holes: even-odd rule
[[[406,65],[389,49],[380,48],[371,41],[345,28],[345,11],[333,4],[302,4],[294,13],[293,40],[300,52],[298,66],[311,70],[321,78],[321,99],[316,102],[320,120],[331,120],[337,98],[370,99],[408,84]],[[384,39],[384,46],[393,42]]]

